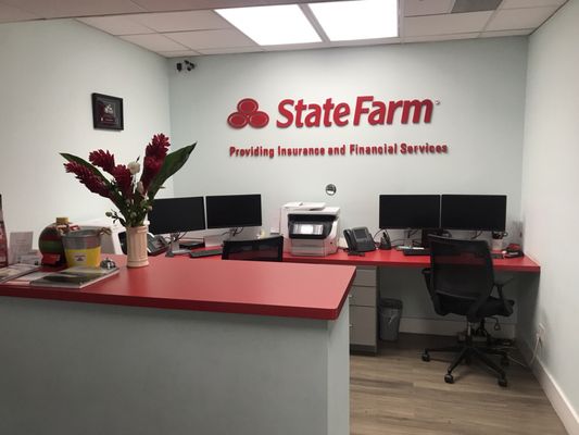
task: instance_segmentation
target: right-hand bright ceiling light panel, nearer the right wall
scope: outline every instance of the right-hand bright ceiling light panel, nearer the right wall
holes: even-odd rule
[[[397,0],[356,0],[309,3],[332,41],[398,36]]]

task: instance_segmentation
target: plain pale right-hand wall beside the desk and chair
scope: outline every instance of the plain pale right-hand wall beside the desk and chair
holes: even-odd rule
[[[519,309],[518,325],[529,348],[538,324],[545,326],[538,361],[575,411],[575,431],[579,428],[578,261],[572,252],[579,215],[577,23],[579,1],[571,0],[530,38],[521,215],[525,249],[539,260],[541,278]]]

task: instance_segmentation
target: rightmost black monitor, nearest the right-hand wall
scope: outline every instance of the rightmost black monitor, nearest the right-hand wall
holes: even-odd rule
[[[445,229],[505,231],[505,195],[442,195]]]

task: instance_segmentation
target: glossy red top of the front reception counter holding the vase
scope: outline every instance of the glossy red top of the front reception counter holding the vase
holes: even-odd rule
[[[251,261],[199,261],[152,257],[150,265],[127,269],[81,289],[0,285],[0,296],[119,306],[168,308],[335,320],[355,268]]]

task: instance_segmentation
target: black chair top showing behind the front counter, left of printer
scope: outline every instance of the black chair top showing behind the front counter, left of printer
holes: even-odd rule
[[[223,260],[281,261],[282,256],[282,236],[223,243]]]

